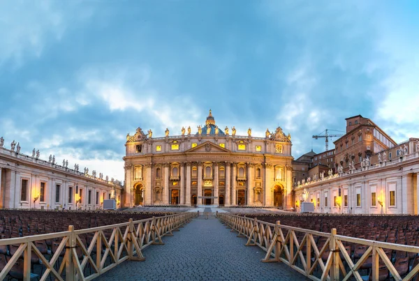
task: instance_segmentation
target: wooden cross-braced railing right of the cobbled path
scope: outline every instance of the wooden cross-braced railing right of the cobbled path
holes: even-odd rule
[[[419,264],[413,264],[402,278],[386,253],[389,249],[417,255],[419,247],[337,235],[336,229],[328,234],[281,225],[279,221],[272,224],[226,213],[217,213],[216,216],[231,231],[237,231],[237,236],[247,237],[247,246],[257,245],[265,250],[263,262],[281,261],[311,280],[362,281],[360,271],[365,263],[371,264],[371,280],[379,280],[378,275],[384,267],[394,280],[411,280],[419,273]],[[322,239],[324,243],[320,245],[317,241]],[[365,245],[367,248],[355,262],[355,258],[348,254],[345,243]]]

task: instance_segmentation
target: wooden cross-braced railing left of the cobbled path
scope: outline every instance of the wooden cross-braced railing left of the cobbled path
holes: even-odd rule
[[[152,244],[163,245],[163,236],[172,236],[172,231],[178,231],[196,215],[181,213],[137,221],[130,219],[116,225],[80,230],[70,225],[68,231],[0,239],[0,247],[8,245],[10,254],[13,253],[3,264],[0,280],[5,280],[7,275],[15,277],[22,273],[23,280],[37,277],[31,273],[31,262],[34,260],[45,266],[41,281],[48,277],[61,281],[92,280],[127,259],[144,261],[142,249]],[[86,235],[91,236],[89,243]],[[46,249],[42,247],[44,241],[47,242],[45,245],[50,244],[47,246],[50,248],[47,251],[50,253],[49,260],[45,255]]]

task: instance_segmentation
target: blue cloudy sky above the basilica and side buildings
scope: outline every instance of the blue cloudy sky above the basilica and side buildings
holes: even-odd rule
[[[362,114],[419,137],[419,1],[0,0],[0,136],[124,179],[126,133],[281,126],[295,158]]]

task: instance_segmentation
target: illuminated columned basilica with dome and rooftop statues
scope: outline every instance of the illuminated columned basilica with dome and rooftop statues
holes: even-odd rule
[[[291,136],[281,128],[240,136],[219,128],[210,111],[197,132],[179,132],[126,136],[125,206],[292,207]]]

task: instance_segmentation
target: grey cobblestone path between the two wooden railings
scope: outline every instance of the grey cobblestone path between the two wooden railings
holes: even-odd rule
[[[146,261],[124,261],[96,280],[307,280],[285,264],[261,262],[263,250],[212,216],[173,234],[143,250]]]

